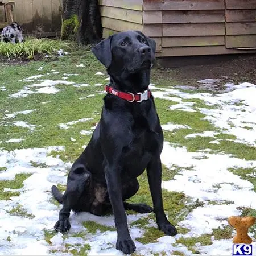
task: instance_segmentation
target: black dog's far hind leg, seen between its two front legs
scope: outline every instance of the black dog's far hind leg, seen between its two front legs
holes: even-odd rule
[[[137,179],[130,181],[130,183],[126,184],[123,188],[124,200],[129,199],[134,196],[135,193],[139,190],[139,183]],[[153,211],[153,208],[147,204],[139,203],[139,204],[130,204],[127,202],[123,202],[123,206],[125,210],[134,210],[134,212],[138,213],[150,213]]]

